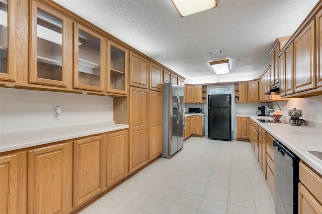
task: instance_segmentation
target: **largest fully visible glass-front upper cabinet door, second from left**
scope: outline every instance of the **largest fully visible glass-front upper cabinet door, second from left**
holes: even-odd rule
[[[35,1],[30,3],[29,82],[66,87],[71,54],[67,18]]]

